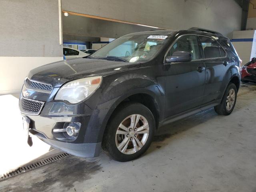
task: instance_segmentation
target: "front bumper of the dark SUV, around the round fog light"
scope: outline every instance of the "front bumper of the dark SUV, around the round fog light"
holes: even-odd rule
[[[20,110],[22,111],[22,95]],[[68,106],[67,112],[58,112],[56,106]],[[69,154],[81,157],[98,156],[101,150],[101,140],[106,126],[106,118],[111,109],[92,110],[84,102],[76,105],[68,105],[64,102],[45,102],[39,115],[22,113],[30,119],[31,134],[36,135],[42,141]],[[54,112],[53,112],[54,111]],[[62,129],[65,123],[79,122],[80,131],[75,140],[63,139],[64,134],[54,133],[54,129]],[[62,137],[60,137],[62,134]]]

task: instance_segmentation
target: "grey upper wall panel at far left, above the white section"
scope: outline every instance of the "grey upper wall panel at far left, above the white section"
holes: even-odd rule
[[[62,56],[58,0],[0,0],[0,8],[0,56]]]

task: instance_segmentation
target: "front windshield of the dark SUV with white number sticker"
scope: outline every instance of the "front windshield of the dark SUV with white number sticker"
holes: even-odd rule
[[[89,58],[132,63],[147,62],[156,56],[168,38],[169,34],[128,34],[105,45]]]

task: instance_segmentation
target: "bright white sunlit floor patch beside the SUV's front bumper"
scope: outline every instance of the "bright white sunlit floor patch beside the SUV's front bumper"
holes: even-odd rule
[[[33,146],[28,146],[18,107],[19,95],[0,95],[0,175],[46,154],[50,149],[36,136],[32,136]],[[7,122],[7,126],[4,122]]]

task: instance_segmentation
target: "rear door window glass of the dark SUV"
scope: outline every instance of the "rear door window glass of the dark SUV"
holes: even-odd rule
[[[200,36],[199,38],[202,44],[205,59],[219,58],[225,56],[225,51],[219,46],[216,40],[202,36]]]

